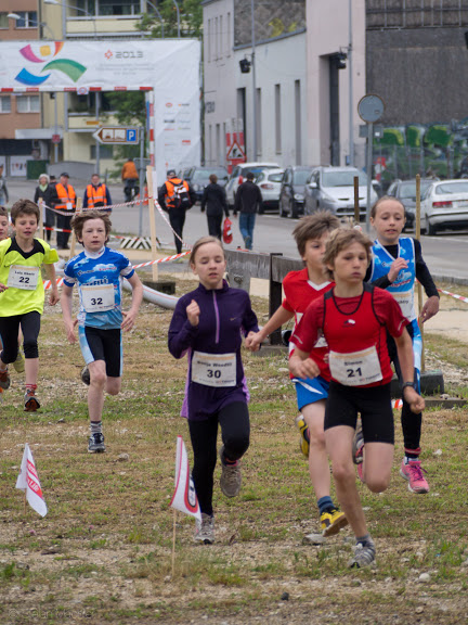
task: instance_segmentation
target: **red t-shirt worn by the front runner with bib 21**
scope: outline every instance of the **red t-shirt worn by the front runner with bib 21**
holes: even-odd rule
[[[322,330],[328,343],[332,361],[333,354],[336,354],[335,362],[341,365],[340,375],[334,373],[332,379],[349,386],[378,386],[387,384],[392,378],[387,331],[392,336],[401,336],[408,323],[390,293],[366,286],[362,295],[356,297],[332,295],[326,301],[323,296],[313,302],[290,340],[301,352],[310,352]],[[361,359],[365,358],[362,367],[358,355]],[[374,373],[377,375],[380,367],[380,380],[376,378],[375,382],[368,384],[356,383],[356,379],[365,378],[365,373],[362,373],[365,367],[370,374],[368,379],[373,379]]]

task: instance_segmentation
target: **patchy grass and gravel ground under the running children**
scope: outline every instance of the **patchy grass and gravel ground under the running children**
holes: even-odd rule
[[[192,288],[178,283],[179,293]],[[253,298],[253,307],[266,314],[263,299]],[[466,412],[425,414],[426,496],[410,494],[398,475],[396,428],[390,488],[376,496],[360,486],[378,566],[349,571],[349,530],[322,547],[302,544],[304,534],[317,532],[317,513],[298,450],[284,353],[245,353],[252,401],[244,487],[238,498],[225,499],[217,468],[211,547],[195,545],[193,519],[177,515],[172,575],[169,501],[178,434],[190,458],[192,451],[179,417],[186,365],[166,346],[170,318],[170,311],[142,307],[135,331],[125,337],[122,393],[105,401],[108,451],[90,456],[81,355],[65,342],[60,310],[47,309],[43,408],[22,411],[23,377],[13,373],[0,414],[0,623],[467,622]],[[447,367],[463,367],[463,345],[434,335],[427,345]],[[14,487],[25,442],[49,507],[44,519],[24,512]],[[128,460],[119,460],[122,454]],[[422,573],[428,582],[418,582]],[[281,599],[284,592],[289,600]]]

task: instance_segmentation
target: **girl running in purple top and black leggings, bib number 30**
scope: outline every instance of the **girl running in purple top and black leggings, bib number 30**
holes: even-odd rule
[[[193,480],[202,510],[195,540],[214,541],[212,509],[218,425],[222,447],[220,486],[226,497],[240,490],[240,458],[249,446],[249,393],[240,359],[242,333],[258,332],[257,317],[245,291],[223,280],[226,262],[214,237],[198,239],[191,267],[199,286],[177,303],[169,327],[169,352],[188,357],[186,394],[181,416],[188,419],[194,450]]]

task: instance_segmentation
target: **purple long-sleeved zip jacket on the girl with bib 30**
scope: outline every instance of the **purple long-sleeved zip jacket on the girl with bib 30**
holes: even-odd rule
[[[185,311],[192,299],[200,308],[196,328],[190,323]],[[217,290],[207,290],[200,284],[179,299],[169,327],[169,352],[174,358],[182,358],[187,353],[188,371],[182,417],[203,421],[227,404],[249,400],[240,346],[242,333],[246,336],[252,330],[258,332],[258,322],[248,293],[240,289],[230,289],[225,281]],[[217,388],[193,382],[194,350],[207,354],[235,353],[236,385]]]

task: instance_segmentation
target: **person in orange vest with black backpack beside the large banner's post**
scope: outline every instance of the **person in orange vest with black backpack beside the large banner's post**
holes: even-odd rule
[[[182,180],[174,169],[169,169],[167,180],[159,188],[158,202],[162,211],[169,213],[169,222],[174,233],[177,253],[182,252],[182,235],[185,212],[196,202],[195,191],[186,180]]]

